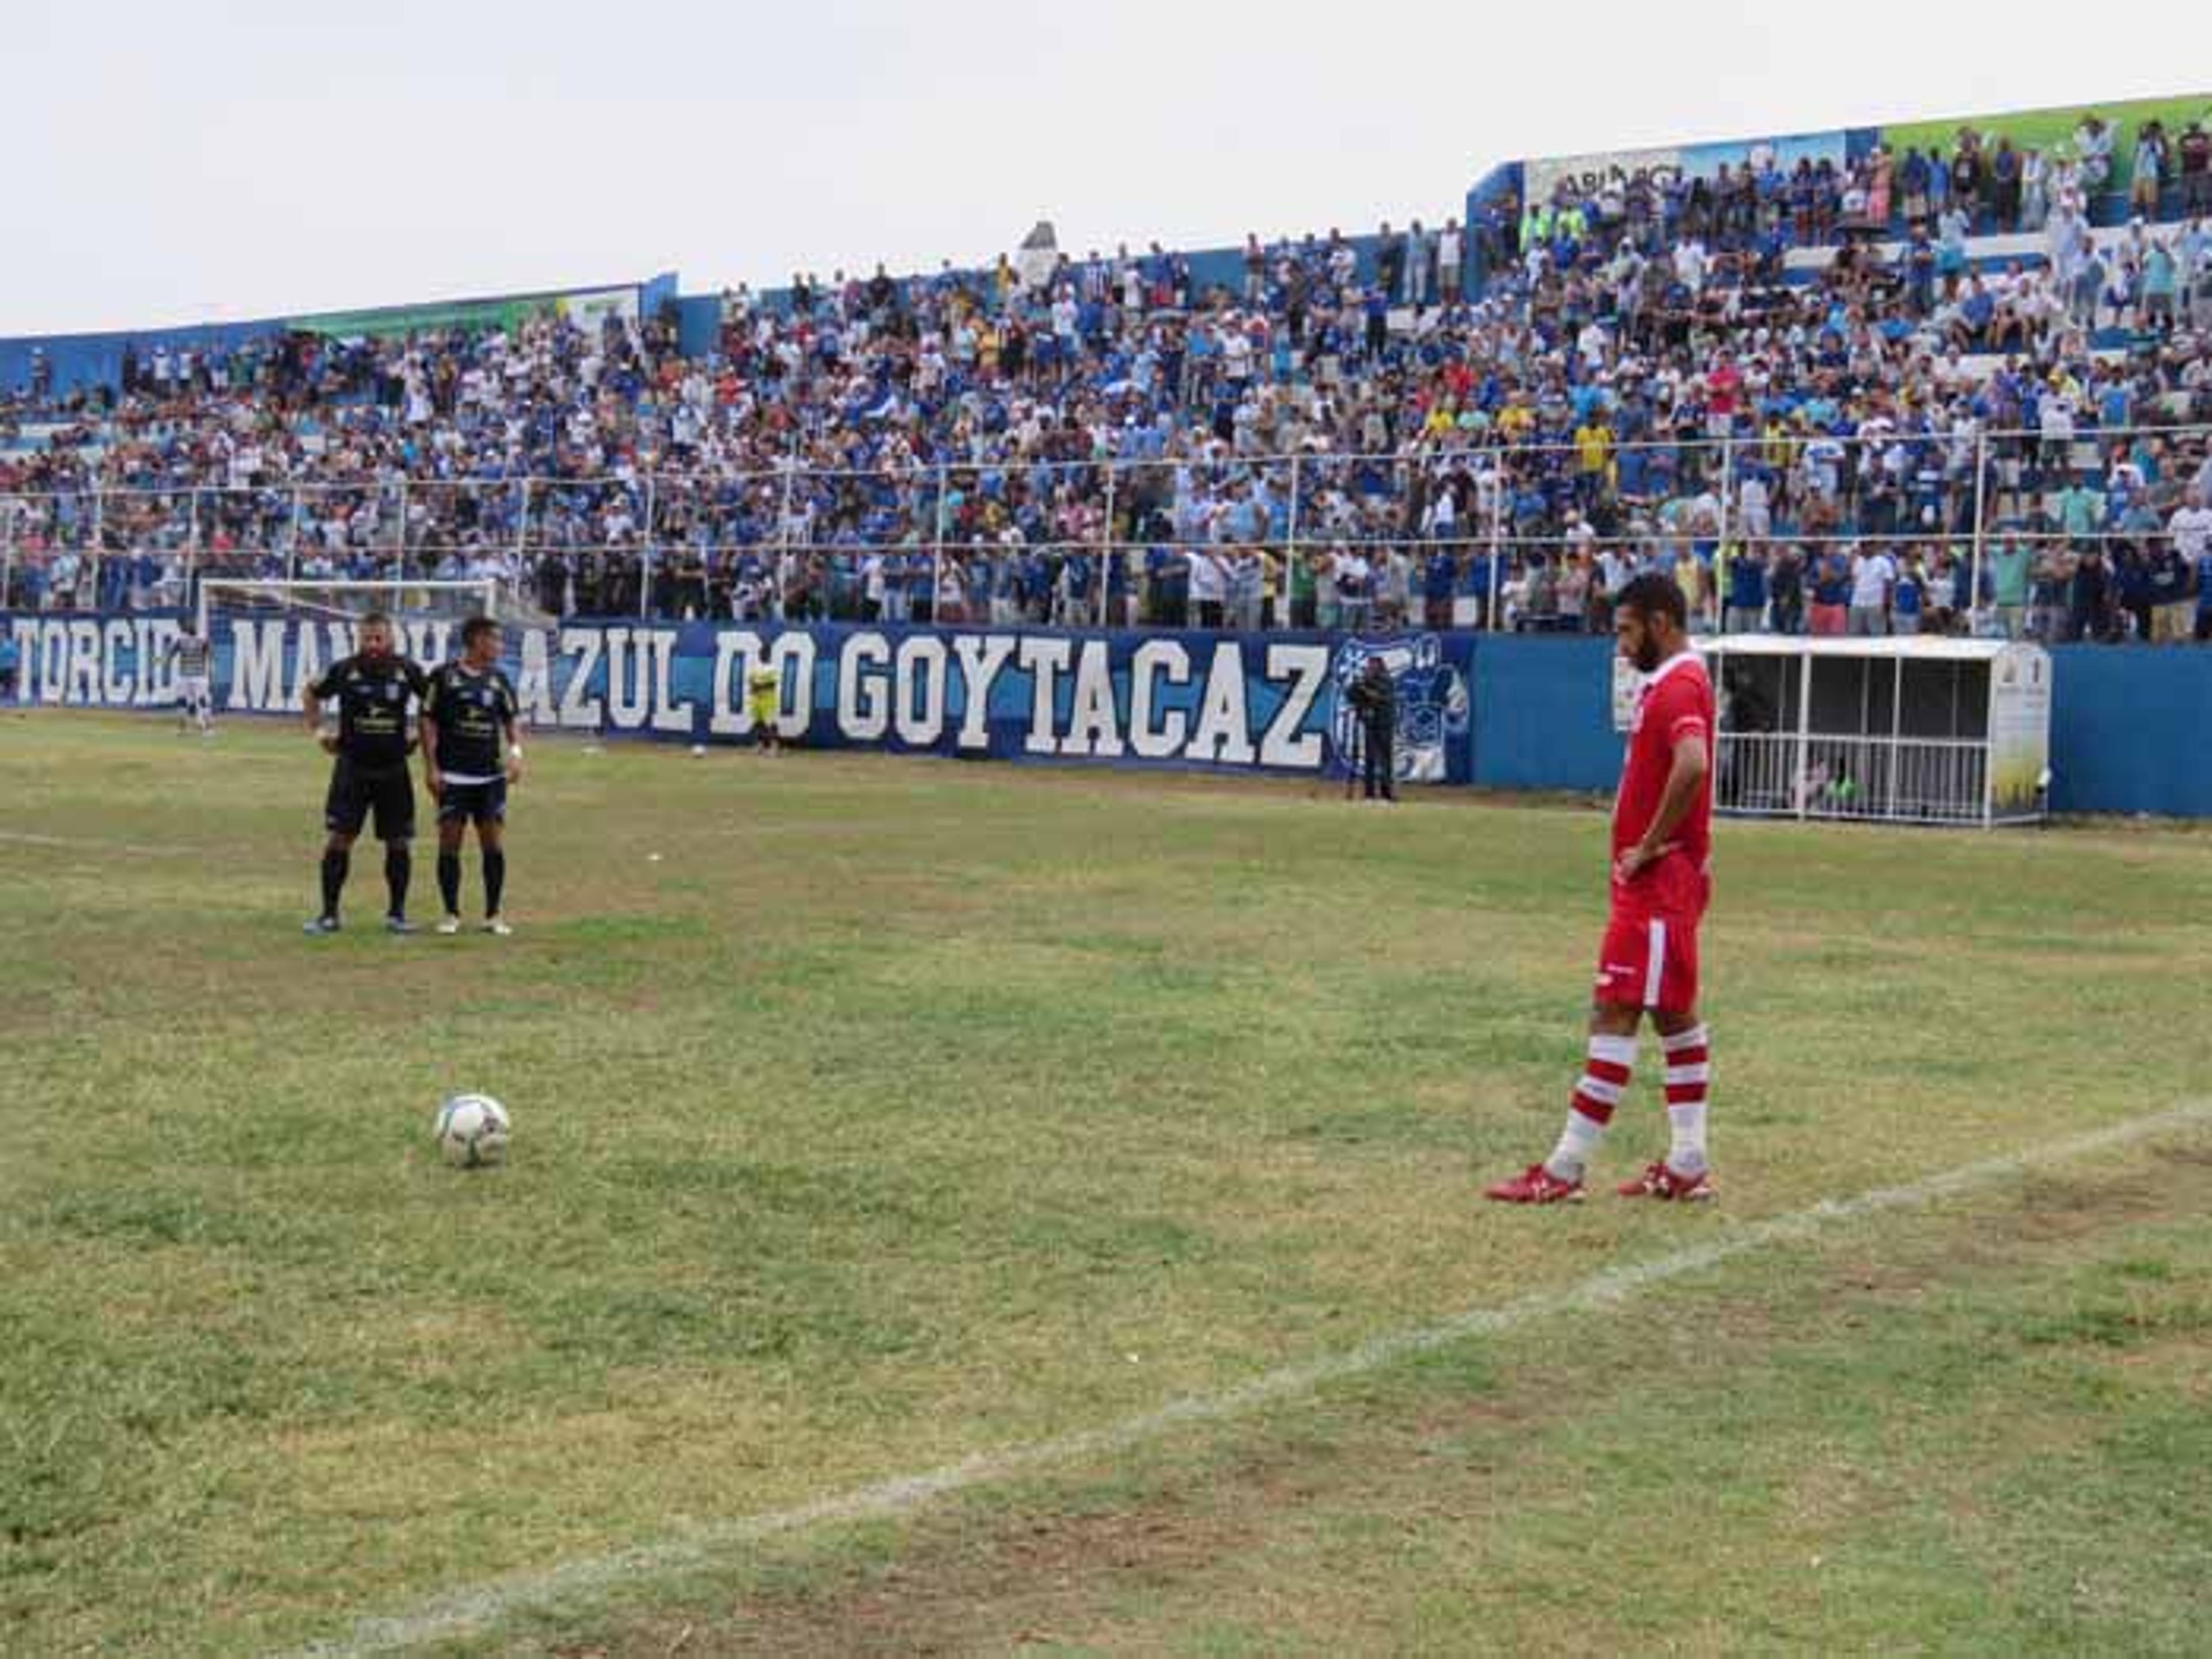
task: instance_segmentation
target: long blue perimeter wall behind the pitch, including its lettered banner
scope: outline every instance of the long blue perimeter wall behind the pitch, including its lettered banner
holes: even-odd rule
[[[166,708],[166,613],[0,619],[22,695]],[[453,624],[407,624],[442,661]],[[349,650],[341,624],[219,617],[217,703],[290,712]],[[1398,774],[1495,790],[1610,790],[1619,776],[1610,641],[1546,635],[1042,633],[575,622],[509,641],[533,728],[679,743],[752,739],[748,675],[774,664],[776,728],[818,748],[1020,763],[1325,772],[1343,765],[1343,688],[1380,657],[1398,690]],[[2051,717],[2057,812],[2212,818],[2212,650],[2059,646]]]

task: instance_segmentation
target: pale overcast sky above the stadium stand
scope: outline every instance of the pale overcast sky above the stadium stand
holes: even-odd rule
[[[7,0],[0,336],[1440,223],[1515,157],[2185,93],[2205,40],[2174,0]]]

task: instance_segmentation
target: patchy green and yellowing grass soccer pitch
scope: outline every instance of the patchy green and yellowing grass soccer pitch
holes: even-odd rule
[[[531,759],[305,940],[296,728],[0,717],[0,1652],[2203,1652],[2212,836],[1723,825],[1723,1201],[1506,1210],[1588,805]]]

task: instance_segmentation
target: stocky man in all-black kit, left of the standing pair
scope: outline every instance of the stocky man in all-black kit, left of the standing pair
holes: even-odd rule
[[[334,661],[307,686],[301,708],[307,734],[336,757],[330,768],[330,796],[323,803],[323,914],[307,922],[310,933],[338,931],[338,894],[354,858],[354,841],[369,814],[376,814],[376,838],[385,843],[385,887],[392,905],[385,911],[387,933],[411,933],[407,920],[407,878],[414,856],[414,779],[407,776],[407,703],[422,703],[429,681],[422,670],[392,648],[392,617],[372,611],[361,619],[361,639],[352,657]],[[338,701],[338,734],[323,732],[323,701]]]

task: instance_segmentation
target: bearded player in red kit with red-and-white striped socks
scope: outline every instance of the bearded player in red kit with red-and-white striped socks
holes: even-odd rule
[[[1712,681],[1690,650],[1681,588],[1639,575],[1613,606],[1613,635],[1646,677],[1613,803],[1613,918],[1597,958],[1590,1057],[1551,1157],[1489,1188],[1500,1203],[1579,1203],[1590,1155],[1637,1064],[1650,1013],[1666,1051],[1672,1146],[1624,1199],[1712,1199],[1705,1166],[1705,1026],[1697,1018],[1697,925],[1712,896]]]

